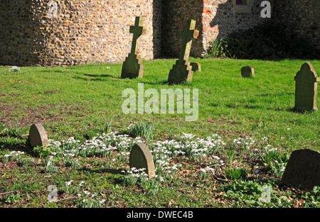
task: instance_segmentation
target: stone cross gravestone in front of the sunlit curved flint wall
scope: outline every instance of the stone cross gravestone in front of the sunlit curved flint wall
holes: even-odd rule
[[[141,35],[146,33],[144,25],[144,18],[136,17],[134,26],[130,26],[129,31],[133,33],[131,52],[122,65],[121,78],[137,78],[142,77],[144,72],[144,65],[142,64],[141,55],[139,55],[139,45]]]

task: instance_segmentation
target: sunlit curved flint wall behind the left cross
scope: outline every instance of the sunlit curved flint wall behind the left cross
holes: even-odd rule
[[[3,65],[122,62],[131,48],[129,26],[135,16],[143,16],[148,29],[142,36],[142,57],[159,56],[158,0],[0,1],[0,11]]]

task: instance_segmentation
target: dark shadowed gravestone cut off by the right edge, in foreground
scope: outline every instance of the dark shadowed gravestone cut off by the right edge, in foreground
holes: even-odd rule
[[[294,150],[281,182],[300,189],[320,186],[320,152],[308,149]]]

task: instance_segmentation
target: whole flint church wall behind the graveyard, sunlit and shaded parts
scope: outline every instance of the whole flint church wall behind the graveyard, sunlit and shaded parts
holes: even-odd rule
[[[237,13],[235,0],[0,0],[0,65],[68,66],[123,62],[130,51],[129,26],[144,16],[144,60],[177,57],[179,33],[189,19],[200,31],[192,57],[202,57],[213,40],[260,23],[287,23],[315,48],[319,45],[319,0],[270,0],[272,18],[261,18],[260,4]],[[285,31],[285,30],[284,30]]]

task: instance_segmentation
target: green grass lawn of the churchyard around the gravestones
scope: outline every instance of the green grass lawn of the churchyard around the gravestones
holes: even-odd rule
[[[192,82],[174,86],[166,80],[175,60],[144,61],[142,79],[120,79],[121,64],[21,67],[19,72],[0,67],[0,193],[14,191],[1,195],[0,205],[319,207],[320,192],[282,187],[279,179],[290,152],[304,148],[320,151],[319,111],[292,111],[295,75],[304,62],[311,62],[319,73],[320,61],[190,60],[200,62],[202,71],[193,74]],[[240,69],[246,65],[255,68],[255,78],[241,77]],[[198,120],[185,121],[188,114],[176,112],[124,114],[122,103],[127,98],[122,97],[122,91],[130,88],[137,92],[139,83],[144,84],[144,91],[156,89],[159,94],[161,89],[198,89]],[[318,106],[319,98],[318,91]],[[85,143],[97,133],[101,135],[108,121],[112,121],[111,131],[122,134],[132,123],[153,124],[154,138],[147,141],[151,150],[156,141],[183,143],[183,133],[199,140],[216,134],[223,145],[202,158],[193,157],[183,147],[185,155],[168,159],[169,165],[181,167],[170,176],[159,173],[164,180],[154,184],[140,177],[132,182],[129,174],[121,172],[129,168],[124,154],[119,154],[129,152],[129,148],[114,150],[106,157],[78,155],[67,163],[63,155],[56,156],[56,169],[50,170],[46,168],[48,155],[39,151],[43,155],[40,158],[39,152],[28,147],[28,129],[33,123],[41,122],[50,140],[73,137]],[[238,138],[255,142],[249,148],[237,143]],[[270,152],[264,150],[267,145],[276,150],[270,151],[276,152],[271,162],[266,158]],[[6,157],[19,150],[24,153]],[[217,167],[215,157],[224,164]],[[213,167],[214,173],[201,171],[206,167]],[[71,180],[70,186],[65,185]],[[85,185],[79,187],[80,182]],[[50,185],[58,188],[58,202],[47,200]],[[264,194],[264,186],[272,187],[272,201],[257,201]],[[76,196],[84,191],[96,196]],[[310,201],[310,196],[318,201]],[[88,205],[81,204],[85,198]]]

